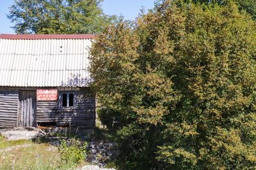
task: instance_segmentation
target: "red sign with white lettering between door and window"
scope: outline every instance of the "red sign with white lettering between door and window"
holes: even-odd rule
[[[57,89],[37,89],[36,101],[57,101],[58,90]]]

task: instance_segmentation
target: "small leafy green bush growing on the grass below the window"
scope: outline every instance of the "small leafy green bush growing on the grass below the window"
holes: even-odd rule
[[[77,164],[81,163],[86,158],[86,146],[87,143],[81,145],[80,141],[77,139],[71,139],[69,143],[64,139],[61,140],[61,145],[58,148],[61,155],[61,162],[65,164]]]

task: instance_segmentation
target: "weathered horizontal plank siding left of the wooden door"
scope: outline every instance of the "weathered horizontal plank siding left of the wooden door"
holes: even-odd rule
[[[19,92],[0,90],[0,127],[16,127]]]

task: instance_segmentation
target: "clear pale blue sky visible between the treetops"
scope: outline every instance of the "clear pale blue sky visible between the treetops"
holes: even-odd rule
[[[0,33],[15,34],[12,27],[14,24],[6,18],[9,7],[14,4],[14,0],[2,0],[0,6]],[[154,7],[154,0],[104,0],[102,9],[107,15],[123,15],[125,20],[133,20],[138,17],[140,9],[143,6],[145,10]]]

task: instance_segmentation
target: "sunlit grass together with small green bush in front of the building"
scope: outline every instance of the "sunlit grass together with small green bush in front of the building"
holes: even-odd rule
[[[70,169],[86,164],[86,143],[68,140],[56,147],[45,139],[7,141],[0,136],[0,169]]]

